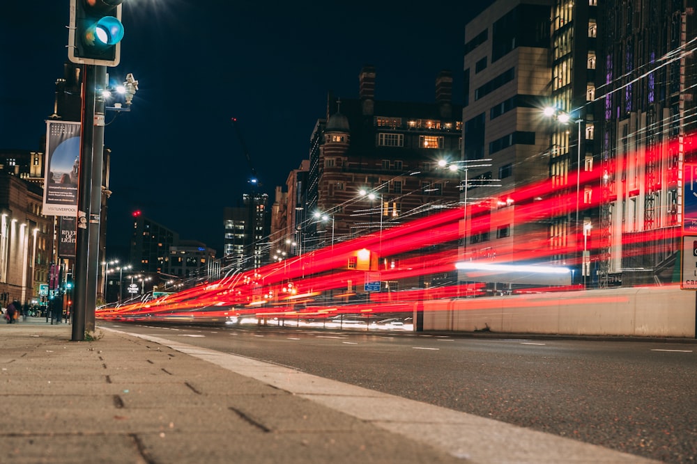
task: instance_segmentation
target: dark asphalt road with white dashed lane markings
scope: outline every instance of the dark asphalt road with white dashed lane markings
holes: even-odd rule
[[[697,460],[697,344],[108,325],[666,463]]]

